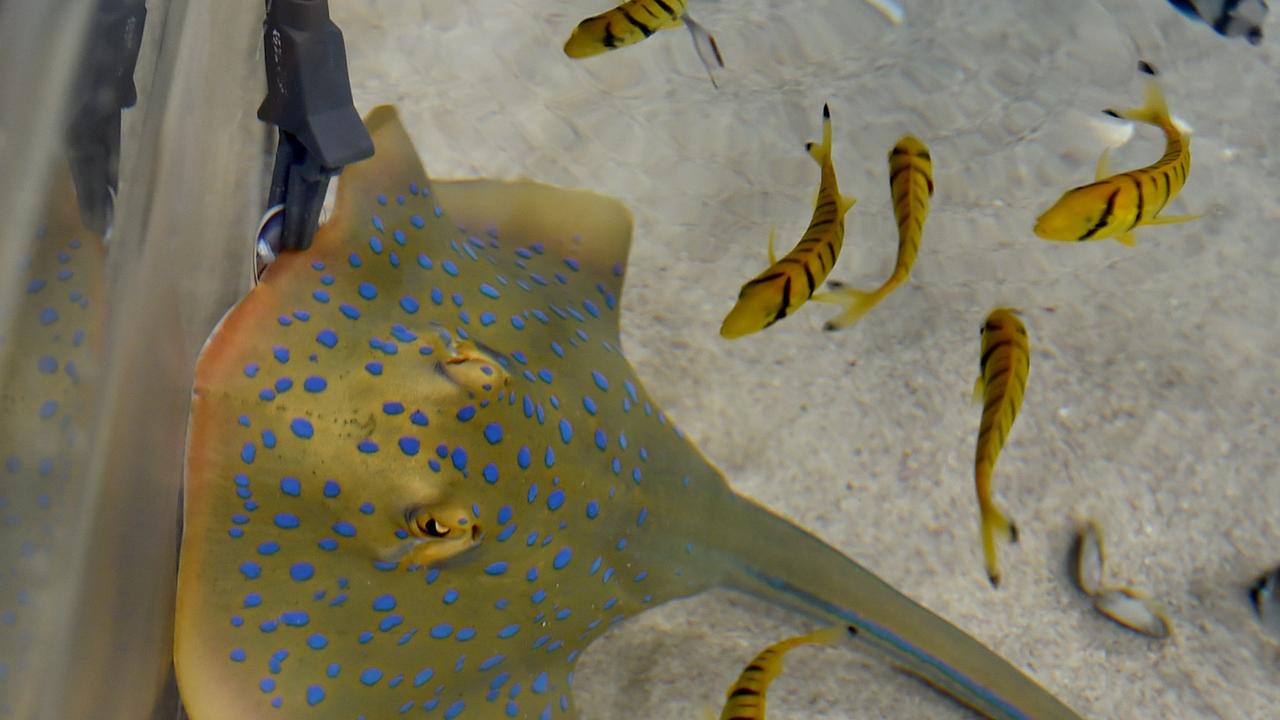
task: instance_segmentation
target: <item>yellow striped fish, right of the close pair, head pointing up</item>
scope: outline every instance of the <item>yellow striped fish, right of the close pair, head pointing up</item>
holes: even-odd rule
[[[813,299],[844,305],[845,310],[827,320],[823,329],[838,331],[852,325],[911,275],[911,265],[920,252],[924,218],[929,214],[929,197],[933,197],[933,160],[929,158],[929,149],[914,136],[902,136],[890,150],[888,187],[893,199],[893,215],[897,218],[897,264],[893,273],[870,292],[832,281],[832,292],[815,295]]]

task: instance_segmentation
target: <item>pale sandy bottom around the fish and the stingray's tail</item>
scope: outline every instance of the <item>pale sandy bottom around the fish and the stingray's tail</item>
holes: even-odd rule
[[[1162,0],[692,0],[727,68],[716,91],[684,31],[571,61],[561,46],[609,0],[334,3],[361,111],[394,102],[434,177],[529,177],[625,201],[635,241],[627,355],[731,484],[977,635],[1089,717],[1262,719],[1280,647],[1244,585],[1280,562],[1280,27],[1225,40]],[[1139,50],[1140,49],[1140,50]],[[1194,129],[1171,213],[1193,224],[1051,243],[1032,224],[1124,137],[1098,110],[1140,102],[1139,56]],[[717,334],[765,238],[804,231],[803,151],[831,102],[849,215],[833,278],[872,286],[896,252],[884,156],[905,132],[937,192],[909,286],[859,325],[809,305]],[[1112,168],[1147,164],[1138,128]],[[978,325],[1025,310],[1034,354],[1000,459],[1021,543],[982,570],[973,498]],[[1073,516],[1107,536],[1114,582],[1155,594],[1175,638],[1097,615],[1070,584]],[[664,606],[586,652],[584,717],[696,717],[765,644],[805,629],[750,598]],[[963,717],[847,650],[804,648],[771,717]]]

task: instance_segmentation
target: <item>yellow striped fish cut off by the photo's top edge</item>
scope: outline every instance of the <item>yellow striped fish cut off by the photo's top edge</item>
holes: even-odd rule
[[[712,72],[713,64],[724,67],[719,45],[707,28],[689,17],[687,6],[689,0],[628,0],[577,23],[564,42],[564,54],[573,59],[593,58],[635,45],[658,31],[685,26],[712,85],[719,87]]]

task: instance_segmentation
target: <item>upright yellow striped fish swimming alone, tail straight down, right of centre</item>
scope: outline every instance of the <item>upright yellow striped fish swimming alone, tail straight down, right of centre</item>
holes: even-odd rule
[[[978,488],[978,509],[982,511],[982,553],[987,561],[987,578],[997,587],[1000,562],[996,560],[996,532],[1018,542],[1018,525],[992,501],[991,475],[1023,405],[1030,364],[1027,327],[1014,315],[1014,310],[992,310],[982,325],[982,359],[978,361],[978,382],[973,388],[974,397],[983,401],[974,456],[974,482]]]

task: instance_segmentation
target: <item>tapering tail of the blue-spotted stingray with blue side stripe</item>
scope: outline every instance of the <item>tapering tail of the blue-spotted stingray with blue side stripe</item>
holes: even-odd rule
[[[717,552],[733,568],[723,584],[849,634],[892,665],[987,717],[1082,720],[984,644],[897,592],[808,532],[754,502],[722,518]]]

